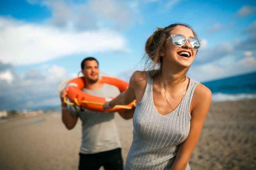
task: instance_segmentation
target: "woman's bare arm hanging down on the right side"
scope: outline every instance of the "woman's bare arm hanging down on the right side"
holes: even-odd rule
[[[191,101],[190,131],[187,139],[179,145],[176,158],[170,170],[184,170],[200,137],[203,123],[210,107],[211,91],[198,84]]]

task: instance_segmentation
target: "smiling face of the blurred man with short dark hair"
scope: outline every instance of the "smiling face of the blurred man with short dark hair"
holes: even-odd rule
[[[99,78],[98,63],[95,60],[85,61],[84,69],[81,71],[84,77],[91,83],[95,83]]]

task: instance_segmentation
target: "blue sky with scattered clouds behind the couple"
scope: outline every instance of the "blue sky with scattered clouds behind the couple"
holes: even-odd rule
[[[94,56],[128,81],[146,39],[174,22],[202,40],[188,76],[205,82],[256,71],[256,1],[2,0],[0,109],[60,105],[57,86]]]

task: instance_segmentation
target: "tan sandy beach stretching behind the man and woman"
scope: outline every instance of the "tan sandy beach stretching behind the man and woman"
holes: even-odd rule
[[[256,99],[213,102],[189,164],[197,169],[256,169]],[[132,119],[118,114],[125,162],[132,142]],[[0,123],[0,169],[77,169],[81,122],[68,131],[60,112]]]

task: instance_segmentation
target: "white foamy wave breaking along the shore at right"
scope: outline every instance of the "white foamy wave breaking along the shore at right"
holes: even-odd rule
[[[213,93],[212,101],[236,101],[244,99],[255,99],[256,94],[254,93],[238,93],[238,94],[224,94],[224,93]]]

